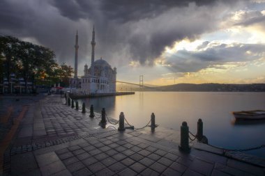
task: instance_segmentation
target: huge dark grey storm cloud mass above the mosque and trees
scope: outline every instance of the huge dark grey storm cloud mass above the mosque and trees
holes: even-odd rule
[[[79,63],[89,63],[93,24],[96,58],[112,65],[129,60],[152,65],[166,46],[216,29],[217,14],[235,1],[0,1],[0,33],[36,40],[73,64],[75,30]],[[221,5],[222,6],[221,6]],[[126,57],[126,58],[124,58]],[[84,59],[87,59],[84,61]]]

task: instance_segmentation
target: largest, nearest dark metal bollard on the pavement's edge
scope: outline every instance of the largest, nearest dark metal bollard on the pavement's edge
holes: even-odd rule
[[[187,122],[182,122],[181,126],[181,145],[179,146],[179,150],[183,152],[190,152],[190,146],[188,141],[189,129]]]

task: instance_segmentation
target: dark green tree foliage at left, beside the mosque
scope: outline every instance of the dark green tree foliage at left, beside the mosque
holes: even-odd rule
[[[54,60],[54,51],[43,46],[33,45],[12,36],[0,35],[0,82],[6,78],[10,82],[10,74],[23,78],[25,85],[30,81],[36,85],[52,86],[62,82],[68,86],[73,67],[63,63],[58,65]],[[10,85],[8,85],[10,91]],[[27,87],[26,87],[27,88]]]

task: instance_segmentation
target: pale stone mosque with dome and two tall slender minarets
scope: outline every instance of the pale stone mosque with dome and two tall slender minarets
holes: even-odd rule
[[[116,92],[116,67],[102,58],[94,61],[95,58],[95,29],[93,27],[91,41],[91,65],[84,65],[84,75],[77,77],[77,58],[78,58],[78,34],[75,35],[75,75],[70,78],[70,88],[78,93],[115,93]],[[73,92],[73,91],[72,91]]]

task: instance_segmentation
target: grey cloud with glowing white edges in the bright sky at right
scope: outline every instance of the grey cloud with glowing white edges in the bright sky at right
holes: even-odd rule
[[[265,45],[262,44],[234,43],[211,46],[209,42],[204,42],[202,45],[202,50],[199,51],[177,51],[167,58],[165,65],[170,65],[169,69],[173,72],[197,72],[213,65],[255,61],[265,56]]]

